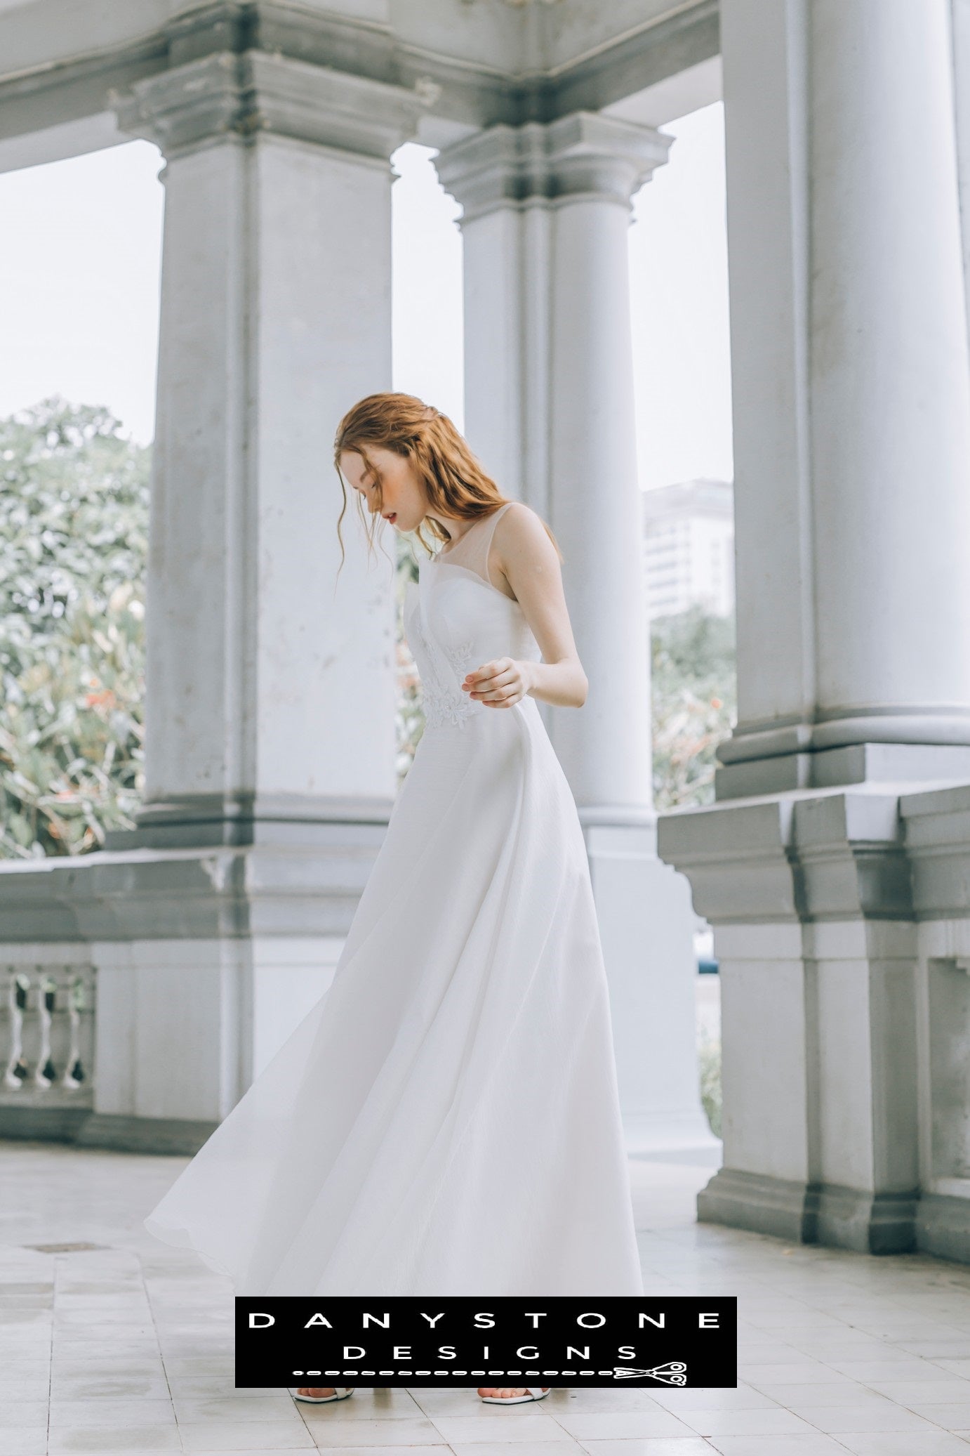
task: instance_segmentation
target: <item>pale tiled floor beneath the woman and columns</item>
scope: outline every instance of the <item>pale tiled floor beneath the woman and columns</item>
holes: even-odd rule
[[[697,1224],[710,1168],[631,1166],[650,1293],[739,1296],[737,1389],[298,1406],[233,1389],[228,1281],[141,1227],[180,1159],[3,1143],[0,1456],[970,1456],[969,1268]]]

